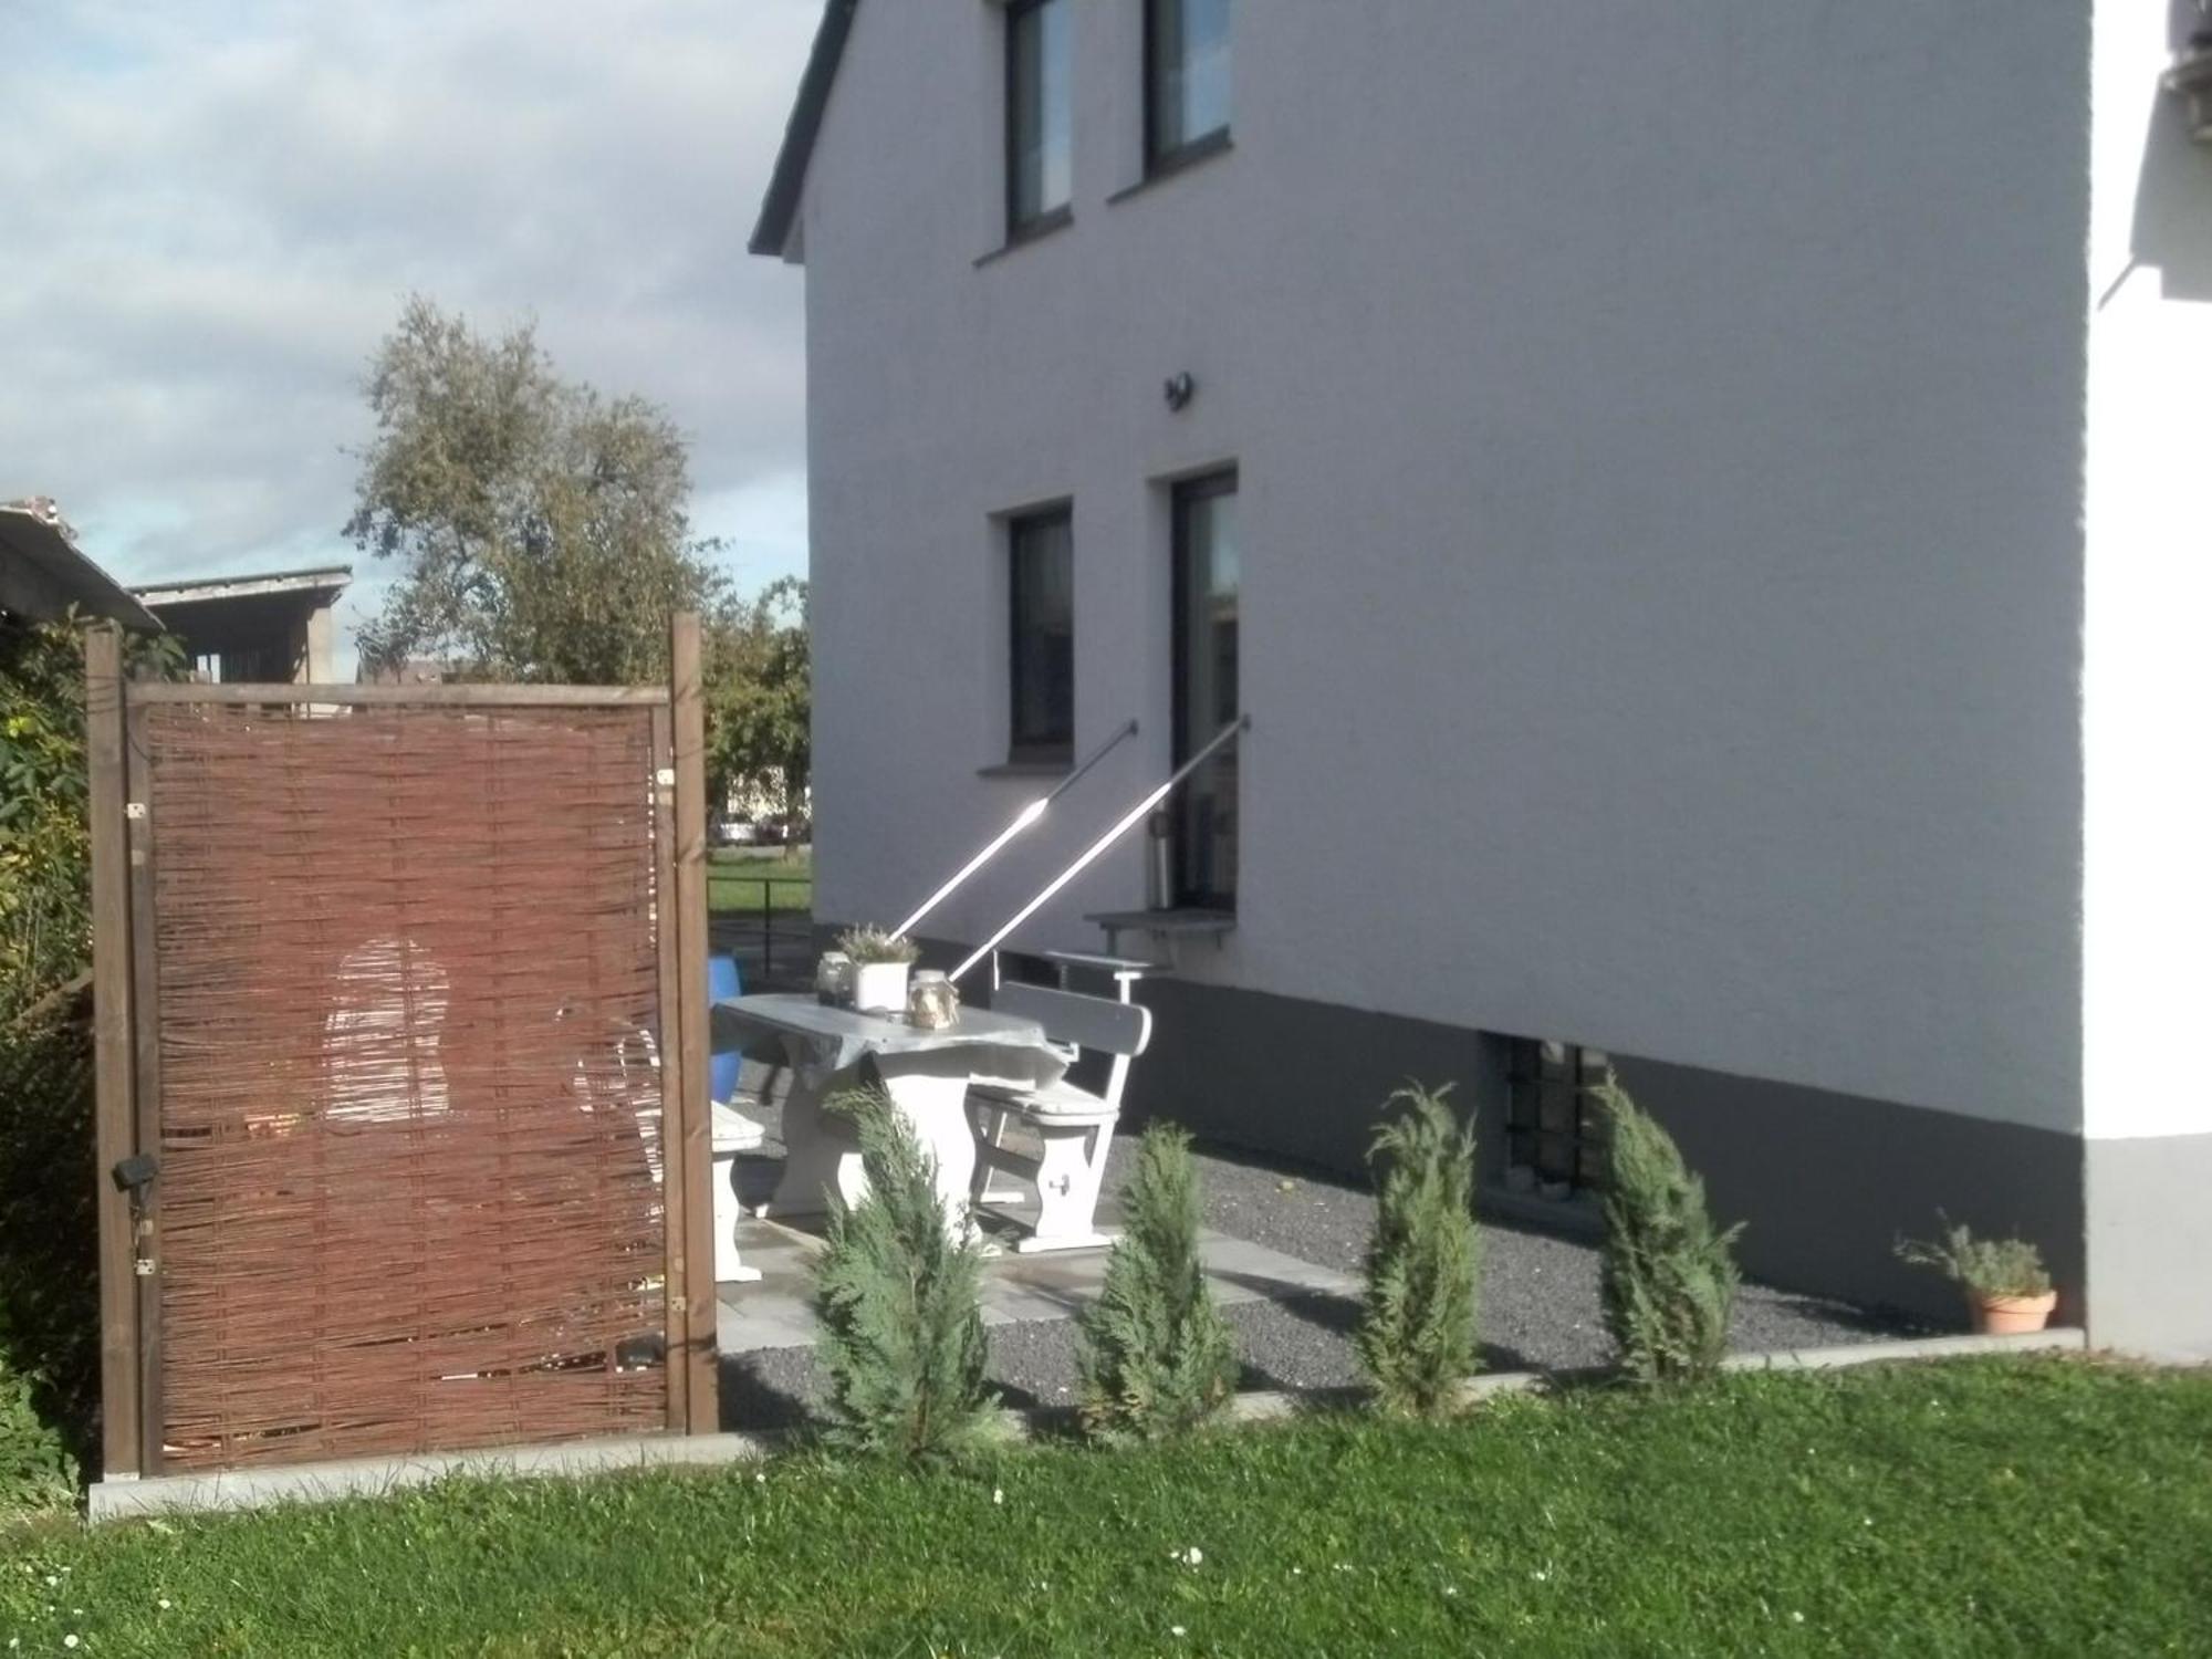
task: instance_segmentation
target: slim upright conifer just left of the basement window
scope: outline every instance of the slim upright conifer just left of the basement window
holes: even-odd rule
[[[1475,1369],[1475,1126],[1460,1126],[1449,1093],[1396,1091],[1367,1148],[1380,1179],[1356,1345],[1383,1407],[1409,1416],[1451,1411]]]

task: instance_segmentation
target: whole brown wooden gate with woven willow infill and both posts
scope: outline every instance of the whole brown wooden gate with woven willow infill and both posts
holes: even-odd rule
[[[117,659],[106,1473],[712,1431],[697,622],[670,688]]]

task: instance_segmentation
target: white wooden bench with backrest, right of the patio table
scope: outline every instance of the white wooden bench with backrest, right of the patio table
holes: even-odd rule
[[[1048,991],[1037,984],[1000,984],[991,1006],[1018,1013],[1044,1026],[1055,1044],[1084,1053],[1113,1055],[1106,1088],[1093,1095],[1066,1079],[1042,1091],[978,1084],[971,1099],[982,1110],[975,1148],[978,1208],[1000,1208],[1022,1199],[1022,1192],[993,1192],[993,1175],[1015,1177],[1037,1194],[1037,1217],[1029,1237],[1015,1250],[1082,1250],[1108,1243],[1097,1232],[1095,1212],[1099,1181],[1106,1179],[1106,1150],[1121,1115],[1121,1086],[1128,1064],[1152,1040],[1152,1011],[1135,1002]],[[1035,1157],[1006,1146],[1006,1130],[1020,1124],[1040,1141]]]

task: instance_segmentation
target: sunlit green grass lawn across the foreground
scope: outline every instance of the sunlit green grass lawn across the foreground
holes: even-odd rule
[[[1739,1376],[0,1553],[0,1639],[42,1655],[2205,1655],[2212,1374]]]

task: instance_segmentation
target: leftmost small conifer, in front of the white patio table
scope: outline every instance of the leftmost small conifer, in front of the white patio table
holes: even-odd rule
[[[998,1420],[984,1389],[982,1254],[953,1241],[936,1166],[880,1091],[832,1102],[860,1133],[867,1197],[830,1199],[816,1267],[834,1444],[938,1458]]]

